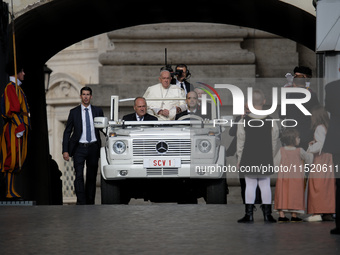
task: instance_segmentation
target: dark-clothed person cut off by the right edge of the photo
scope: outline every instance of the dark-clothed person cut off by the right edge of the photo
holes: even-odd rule
[[[330,113],[330,122],[322,150],[333,155],[336,178],[335,228],[331,234],[340,235],[340,80],[328,83],[325,87],[325,108]]]

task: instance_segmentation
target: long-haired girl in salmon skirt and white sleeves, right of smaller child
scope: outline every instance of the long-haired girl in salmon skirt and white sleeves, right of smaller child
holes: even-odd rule
[[[308,176],[307,213],[312,214],[305,221],[333,220],[335,213],[335,179],[332,154],[323,152],[329,117],[321,105],[312,109],[314,140],[309,143],[308,152],[314,154],[313,167]],[[322,215],[323,214],[323,215]]]

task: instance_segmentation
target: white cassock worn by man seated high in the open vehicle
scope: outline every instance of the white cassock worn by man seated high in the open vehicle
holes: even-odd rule
[[[156,116],[159,120],[174,120],[176,116],[176,106],[182,111],[187,109],[185,104],[185,92],[176,85],[170,85],[168,89],[163,88],[161,83],[150,86],[143,96],[148,104],[148,113]],[[158,100],[153,101],[148,98],[178,98],[179,100]],[[160,110],[169,110],[169,117],[158,115]]]

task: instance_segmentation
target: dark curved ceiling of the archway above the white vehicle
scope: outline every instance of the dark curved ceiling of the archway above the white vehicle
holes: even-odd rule
[[[315,49],[316,18],[280,1],[54,0],[15,20],[17,56],[23,64],[44,64],[60,50],[85,38],[115,29],[165,22],[251,27]]]

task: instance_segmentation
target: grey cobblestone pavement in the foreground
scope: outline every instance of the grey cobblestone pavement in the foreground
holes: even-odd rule
[[[242,204],[0,207],[1,254],[340,254],[334,222],[239,224]],[[275,216],[277,216],[275,214]]]

